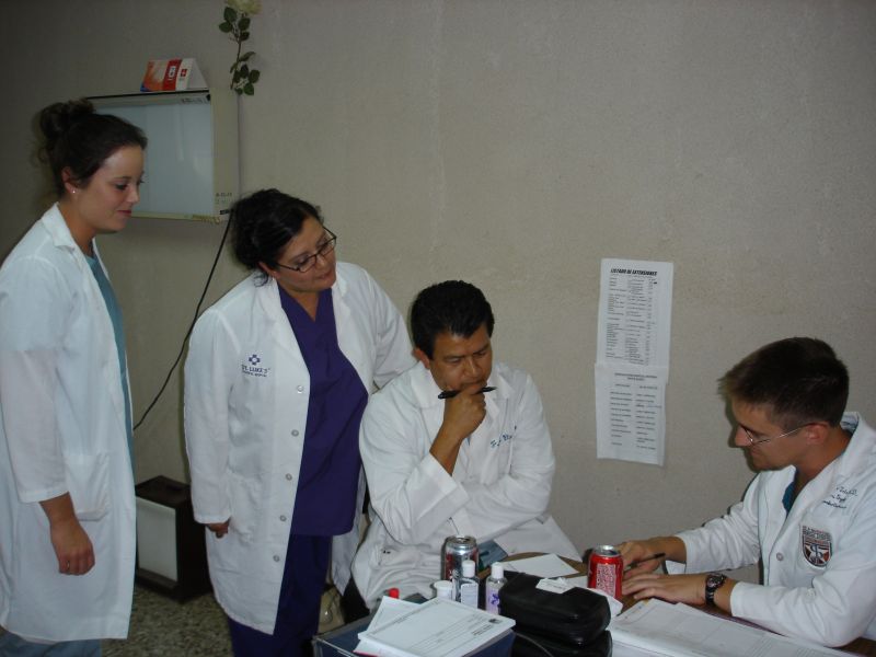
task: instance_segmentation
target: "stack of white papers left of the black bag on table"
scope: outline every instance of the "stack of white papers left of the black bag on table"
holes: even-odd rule
[[[382,657],[463,657],[507,634],[514,624],[505,616],[434,598],[359,634],[356,652]]]

